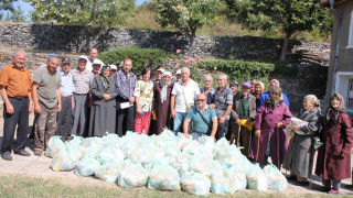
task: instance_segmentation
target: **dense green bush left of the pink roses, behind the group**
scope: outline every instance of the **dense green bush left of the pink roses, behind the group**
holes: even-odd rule
[[[121,61],[130,58],[132,59],[132,72],[136,75],[140,75],[141,70],[147,66],[151,66],[153,70],[157,70],[159,66],[165,65],[165,59],[176,57],[179,56],[162,50],[141,48],[137,46],[107,51],[100,53],[98,56],[104,63],[115,64],[117,66]]]

